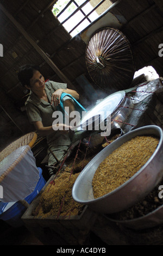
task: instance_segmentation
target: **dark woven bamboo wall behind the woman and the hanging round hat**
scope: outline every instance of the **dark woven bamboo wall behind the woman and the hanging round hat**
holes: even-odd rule
[[[114,2],[116,0],[112,0],[112,3]],[[84,105],[85,102],[89,102],[91,93],[88,95],[87,90],[78,84],[78,77],[84,74],[91,84],[90,92],[97,90],[86,69],[86,44],[79,35],[71,38],[64,27],[59,26],[59,21],[51,11],[54,3],[55,1],[51,0],[1,0],[0,7],[2,5],[7,10],[30,39],[40,47],[43,53],[47,54],[58,69],[70,80],[70,83],[81,95],[81,103]],[[158,56],[158,47],[162,43],[161,38],[163,38],[161,0],[122,0],[110,12],[121,22],[121,31],[131,43],[136,70],[146,65],[152,65],[158,74],[163,76],[163,62]],[[3,45],[3,57],[0,59],[0,89],[6,97],[5,109],[9,111],[8,114],[12,114],[11,109],[7,107],[12,105],[12,111],[15,108],[16,113],[12,115],[12,118],[21,130],[26,127],[23,132],[28,132],[28,125],[24,125],[25,121],[21,127],[21,117],[26,119],[21,107],[24,106],[27,91],[22,88],[17,79],[19,66],[35,63],[41,66],[42,74],[46,79],[50,78],[58,82],[62,82],[62,79],[1,8],[0,23],[0,44]],[[3,96],[0,94],[1,102],[2,98]],[[3,117],[3,109],[0,109],[0,115],[1,123],[3,123],[1,134],[4,131],[6,135],[5,127],[9,127],[9,124],[12,126],[12,120],[7,116]],[[15,129],[10,132],[10,136],[13,133],[15,134]]]

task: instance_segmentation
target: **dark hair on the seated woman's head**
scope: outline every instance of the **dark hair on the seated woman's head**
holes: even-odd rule
[[[33,77],[35,71],[40,72],[39,66],[26,64],[19,68],[18,70],[18,80],[22,83],[22,86],[29,86],[30,87],[30,78]]]

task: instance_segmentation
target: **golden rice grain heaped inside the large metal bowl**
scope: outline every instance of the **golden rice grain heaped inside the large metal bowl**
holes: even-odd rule
[[[158,143],[158,138],[137,136],[114,150],[93,176],[94,197],[102,197],[129,180],[149,160]]]

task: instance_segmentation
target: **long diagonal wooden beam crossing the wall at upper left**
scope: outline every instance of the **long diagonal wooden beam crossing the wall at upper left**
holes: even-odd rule
[[[40,56],[46,61],[46,63],[51,66],[51,68],[56,72],[56,74],[61,78],[64,83],[67,83],[67,86],[70,89],[74,88],[70,80],[59,70],[59,68],[52,62],[52,60],[46,55],[45,52],[36,44],[36,42],[29,36],[29,34],[24,30],[24,28],[18,23],[14,17],[3,7],[0,3],[0,9],[8,17],[8,19],[15,25],[16,29],[21,32],[21,34],[26,38],[26,40],[35,48],[35,50],[40,54]]]

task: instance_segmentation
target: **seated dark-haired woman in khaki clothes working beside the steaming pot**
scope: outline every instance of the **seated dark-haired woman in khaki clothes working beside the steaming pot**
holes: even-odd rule
[[[62,111],[61,101],[64,107],[69,107],[69,113],[75,110],[76,105],[85,111],[76,101],[79,99],[79,94],[75,90],[68,89],[65,83],[45,82],[39,67],[34,65],[22,66],[18,71],[18,79],[24,87],[30,90],[25,103],[28,119],[40,135],[47,137],[48,165],[53,166],[57,160],[62,159],[71,143],[68,136],[69,126],[58,124],[62,130],[53,129],[53,112]],[[62,97],[64,94],[66,96]],[[52,169],[49,169],[49,174],[53,174]]]

